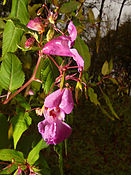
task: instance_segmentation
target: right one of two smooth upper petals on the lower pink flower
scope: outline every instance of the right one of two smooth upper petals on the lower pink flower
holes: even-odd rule
[[[72,97],[71,89],[65,88],[65,91],[62,95],[61,103],[59,107],[66,113],[69,114],[73,110],[74,101]]]

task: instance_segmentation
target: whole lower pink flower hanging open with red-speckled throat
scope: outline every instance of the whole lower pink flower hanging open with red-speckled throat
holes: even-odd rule
[[[70,136],[72,129],[64,120],[65,113],[71,113],[73,107],[71,89],[58,89],[46,97],[43,109],[45,120],[38,124],[38,130],[47,144],[59,144]]]

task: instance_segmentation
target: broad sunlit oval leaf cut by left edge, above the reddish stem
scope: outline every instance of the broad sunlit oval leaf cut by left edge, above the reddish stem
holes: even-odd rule
[[[1,64],[0,86],[5,90],[13,91],[24,83],[24,72],[21,62],[16,55],[8,53]]]

